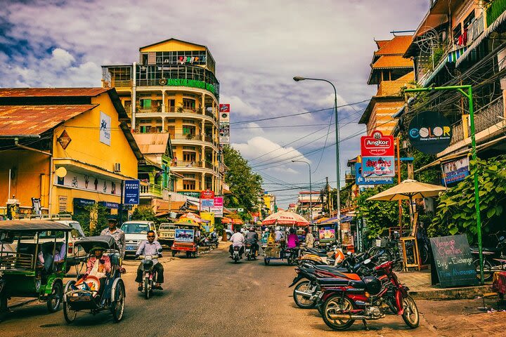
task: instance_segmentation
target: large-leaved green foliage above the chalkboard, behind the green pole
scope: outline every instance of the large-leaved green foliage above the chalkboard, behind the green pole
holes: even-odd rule
[[[478,159],[470,164],[473,168],[471,175],[441,195],[429,233],[467,234],[469,242],[476,242],[474,171],[478,173],[482,232],[486,234],[500,229],[506,207],[506,157]]]

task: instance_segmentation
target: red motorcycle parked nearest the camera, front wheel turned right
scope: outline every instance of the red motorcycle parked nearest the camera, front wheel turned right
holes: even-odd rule
[[[320,312],[327,326],[335,330],[348,329],[356,319],[362,319],[367,329],[368,319],[382,319],[387,311],[401,315],[414,329],[420,323],[415,300],[408,287],[398,282],[393,261],[374,268],[373,275],[361,280],[318,279],[321,288]]]

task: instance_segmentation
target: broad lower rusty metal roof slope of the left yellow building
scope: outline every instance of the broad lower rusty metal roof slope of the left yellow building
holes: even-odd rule
[[[36,136],[97,105],[0,105],[0,136]]]

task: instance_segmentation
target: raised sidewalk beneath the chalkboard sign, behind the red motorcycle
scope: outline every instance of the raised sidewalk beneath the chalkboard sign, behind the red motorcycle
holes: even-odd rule
[[[399,281],[410,289],[413,298],[424,300],[461,300],[476,298],[491,292],[491,284],[484,286],[461,286],[455,288],[441,288],[431,284],[430,270],[396,272]]]

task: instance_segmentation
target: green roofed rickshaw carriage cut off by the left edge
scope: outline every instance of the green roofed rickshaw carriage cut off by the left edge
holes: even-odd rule
[[[12,297],[38,298],[58,311],[71,230],[50,220],[0,221],[0,316]]]

